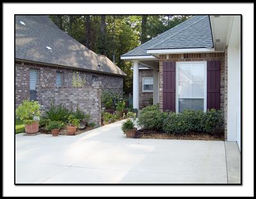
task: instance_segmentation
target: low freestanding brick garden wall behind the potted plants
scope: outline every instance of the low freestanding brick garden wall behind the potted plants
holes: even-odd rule
[[[42,111],[49,109],[51,103],[63,104],[67,109],[76,110],[77,107],[84,113],[90,113],[90,121],[101,124],[101,83],[93,83],[87,87],[63,86],[61,88],[48,88],[38,86],[38,102],[42,105]]]

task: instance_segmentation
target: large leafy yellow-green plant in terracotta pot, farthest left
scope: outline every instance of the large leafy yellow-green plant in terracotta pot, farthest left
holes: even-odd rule
[[[39,130],[41,116],[40,104],[36,101],[24,100],[15,110],[17,118],[25,124],[27,134],[36,134]]]

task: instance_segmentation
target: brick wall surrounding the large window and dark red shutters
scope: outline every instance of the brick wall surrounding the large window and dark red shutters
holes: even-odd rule
[[[163,84],[161,84],[163,83],[163,61],[217,61],[217,60],[220,60],[220,65],[221,65],[220,66],[220,77],[221,77],[220,109],[221,111],[223,111],[223,113],[225,113],[226,112],[225,99],[227,99],[227,78],[226,78],[227,66],[225,65],[227,60],[225,60],[225,52],[161,54],[159,57],[159,105],[161,109],[163,109]],[[225,120],[225,122],[227,122],[227,120]]]

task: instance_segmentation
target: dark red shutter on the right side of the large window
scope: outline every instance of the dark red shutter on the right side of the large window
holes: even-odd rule
[[[207,109],[220,109],[220,61],[207,61]]]

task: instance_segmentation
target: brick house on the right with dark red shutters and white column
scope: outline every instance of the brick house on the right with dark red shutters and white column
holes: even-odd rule
[[[195,15],[121,56],[133,62],[133,107],[215,108],[241,145],[241,16]]]

